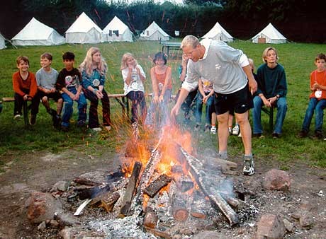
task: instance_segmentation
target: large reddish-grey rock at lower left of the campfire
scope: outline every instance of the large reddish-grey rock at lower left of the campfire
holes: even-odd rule
[[[27,199],[27,217],[32,223],[52,220],[55,214],[62,211],[62,204],[50,193],[32,192]]]

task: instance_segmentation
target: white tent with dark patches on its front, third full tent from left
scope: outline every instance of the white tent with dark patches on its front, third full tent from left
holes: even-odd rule
[[[133,42],[133,33],[117,16],[103,29],[106,42]]]

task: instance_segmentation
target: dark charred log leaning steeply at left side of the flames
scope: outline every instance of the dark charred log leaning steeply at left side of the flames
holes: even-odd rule
[[[130,216],[130,206],[133,200],[133,196],[135,194],[135,188],[137,184],[137,180],[140,174],[140,169],[142,168],[142,163],[135,162],[133,166],[133,173],[129,178],[128,186],[125,190],[125,196],[123,197],[123,202],[121,203],[120,215],[119,217]]]

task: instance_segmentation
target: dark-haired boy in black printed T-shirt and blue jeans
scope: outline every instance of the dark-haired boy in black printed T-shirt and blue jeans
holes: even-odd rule
[[[64,69],[57,77],[57,88],[62,94],[64,100],[61,129],[67,132],[69,129],[69,120],[72,117],[72,105],[74,100],[78,103],[78,122],[77,126],[82,127],[86,122],[86,98],[81,87],[81,74],[74,68],[74,53],[65,52],[62,55]]]

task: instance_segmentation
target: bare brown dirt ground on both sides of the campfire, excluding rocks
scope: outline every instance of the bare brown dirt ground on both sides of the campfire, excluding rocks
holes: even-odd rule
[[[57,181],[71,181],[83,173],[99,169],[112,172],[120,165],[119,157],[103,146],[92,151],[67,149],[57,154],[42,151],[25,153],[23,156],[15,153],[0,156],[0,170],[3,172],[0,174],[0,238],[58,237],[58,231],[38,231],[38,225],[28,221],[25,202],[30,192],[48,192]],[[296,163],[287,171],[292,179],[290,190],[278,192],[264,190],[261,186],[264,173],[271,168],[279,168],[277,163],[257,160],[257,173],[248,177],[241,173],[241,158],[232,158],[231,161],[239,165],[237,175],[232,177],[238,189],[246,192],[245,202],[252,205],[253,213],[234,228],[216,226],[220,235],[253,238],[260,216],[270,213],[288,218],[293,223],[293,231],[288,232],[286,238],[325,238],[326,170]],[[303,200],[311,207],[313,224],[310,228],[302,228],[298,220],[291,216],[300,211]]]

